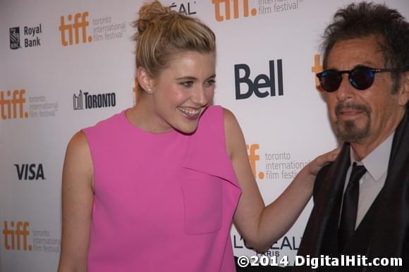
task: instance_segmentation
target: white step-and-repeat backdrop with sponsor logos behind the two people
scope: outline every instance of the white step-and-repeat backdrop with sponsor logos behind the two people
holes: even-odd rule
[[[0,1],[1,272],[56,271],[66,144],[80,128],[133,106],[130,23],[143,2]],[[216,32],[214,104],[236,114],[266,203],[337,145],[315,72],[322,30],[348,3],[164,1]],[[408,0],[386,3],[409,17]],[[311,208],[265,254],[293,259]],[[231,238],[236,255],[256,254],[235,228]]]

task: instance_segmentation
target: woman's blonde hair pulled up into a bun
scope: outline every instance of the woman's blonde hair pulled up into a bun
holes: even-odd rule
[[[197,18],[171,11],[159,1],[144,4],[134,26],[137,28],[136,67],[144,68],[152,78],[157,78],[177,54],[216,51],[216,37],[207,25]]]

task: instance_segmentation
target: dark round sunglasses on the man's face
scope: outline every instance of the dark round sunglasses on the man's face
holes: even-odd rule
[[[367,89],[374,83],[376,73],[386,73],[395,71],[406,71],[409,68],[369,68],[367,66],[356,66],[352,70],[336,70],[329,69],[324,70],[321,73],[317,73],[319,83],[326,92],[335,92],[342,82],[342,74],[348,74],[348,80],[350,85],[353,85],[355,89]]]

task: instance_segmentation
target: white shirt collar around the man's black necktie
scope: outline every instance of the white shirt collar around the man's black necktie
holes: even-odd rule
[[[395,132],[392,132],[389,137],[384,140],[379,146],[377,146],[368,156],[362,159],[361,163],[367,169],[367,172],[371,175],[372,179],[377,181],[381,178],[384,173],[388,170],[389,156],[391,156],[393,135]],[[355,161],[354,151],[350,147],[350,161],[351,164]]]

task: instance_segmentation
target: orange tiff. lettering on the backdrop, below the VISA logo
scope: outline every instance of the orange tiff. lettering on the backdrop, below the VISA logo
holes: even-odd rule
[[[32,245],[28,245],[29,226],[30,223],[28,222],[18,221],[14,223],[14,221],[11,221],[11,228],[9,228],[8,221],[4,221],[4,248],[8,250],[32,251]]]

